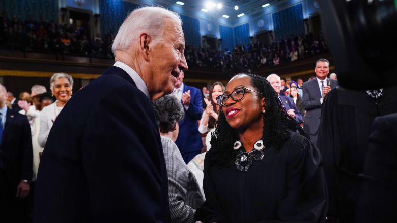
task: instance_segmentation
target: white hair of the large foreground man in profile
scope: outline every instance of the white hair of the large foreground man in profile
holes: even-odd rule
[[[174,20],[182,27],[181,17],[172,11],[160,6],[149,6],[135,9],[124,20],[120,26],[111,50],[128,49],[133,41],[143,32],[149,34],[154,42],[161,40],[165,20]]]

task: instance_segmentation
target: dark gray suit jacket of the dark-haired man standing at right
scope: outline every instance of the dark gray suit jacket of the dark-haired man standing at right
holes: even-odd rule
[[[325,81],[329,81],[331,89],[339,86],[338,81],[326,78]],[[310,135],[315,135],[319,131],[320,127],[320,116],[321,116],[321,91],[317,78],[313,78],[305,83],[303,83],[303,97],[302,105],[306,110],[306,115],[304,119],[303,129]]]

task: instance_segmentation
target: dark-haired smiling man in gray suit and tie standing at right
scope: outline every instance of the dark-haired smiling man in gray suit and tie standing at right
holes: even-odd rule
[[[303,84],[302,105],[307,111],[303,129],[310,135],[310,140],[317,145],[320,129],[321,106],[324,97],[329,91],[339,86],[337,80],[327,78],[329,73],[329,61],[319,59],[315,68],[316,78]]]

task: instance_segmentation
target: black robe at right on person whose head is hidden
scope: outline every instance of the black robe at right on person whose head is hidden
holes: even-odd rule
[[[330,216],[353,222],[362,166],[375,117],[397,111],[396,87],[373,99],[366,91],[333,89],[326,96],[318,147],[324,160]]]

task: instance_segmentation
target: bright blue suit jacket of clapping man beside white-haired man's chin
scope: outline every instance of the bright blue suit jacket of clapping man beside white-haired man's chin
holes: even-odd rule
[[[190,90],[191,97],[189,109],[186,110],[183,106],[185,116],[179,122],[179,134],[175,141],[181,152],[192,152],[203,148],[203,141],[200,132],[198,132],[197,124],[197,120],[200,120],[203,115],[201,91],[184,84],[183,92],[188,90]]]

